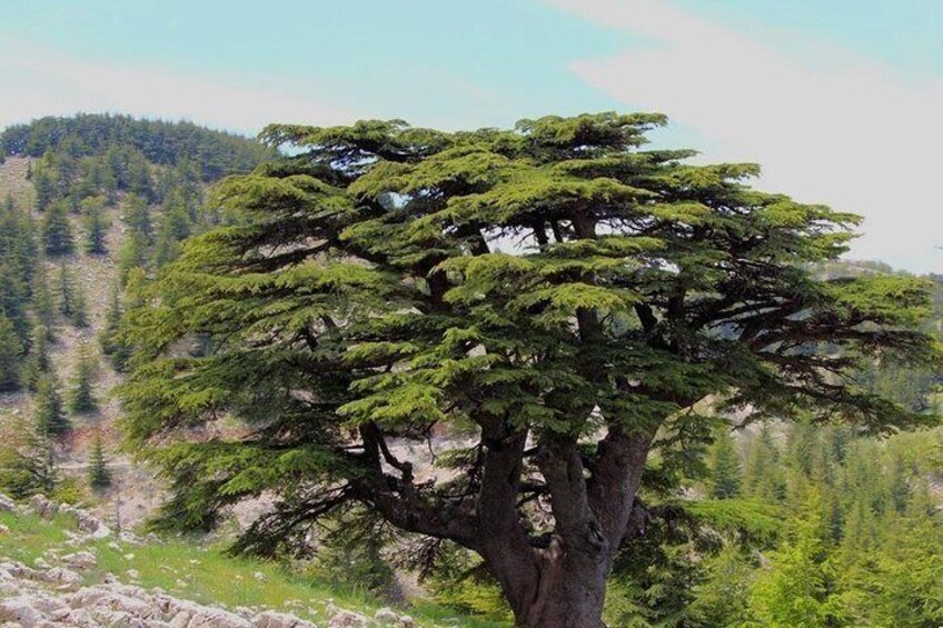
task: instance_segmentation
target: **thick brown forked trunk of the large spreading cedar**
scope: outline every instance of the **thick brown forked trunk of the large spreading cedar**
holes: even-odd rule
[[[517,626],[605,626],[606,579],[628,527],[649,442],[645,436],[611,432],[589,481],[575,442],[549,446],[538,465],[550,487],[555,530],[539,542],[522,527],[513,500],[504,508],[499,500],[483,500],[479,552],[496,574]],[[489,449],[485,486],[492,470],[503,480],[498,492],[510,498],[523,439],[505,443],[510,447]]]

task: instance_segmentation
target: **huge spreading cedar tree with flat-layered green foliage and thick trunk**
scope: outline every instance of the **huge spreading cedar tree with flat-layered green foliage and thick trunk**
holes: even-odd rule
[[[927,282],[815,273],[856,216],[755,190],[753,165],[646,150],[664,123],[267,128],[291,157],[220,182],[237,225],[186,243],[129,312],[127,428],[173,479],[165,521],[271,492],[238,548],[305,551],[356,506],[477,552],[522,626],[598,626],[646,458],[709,431],[698,401],[925,422],[850,373],[936,360]],[[226,415],[254,429],[158,446]],[[450,469],[417,478],[404,440]]]

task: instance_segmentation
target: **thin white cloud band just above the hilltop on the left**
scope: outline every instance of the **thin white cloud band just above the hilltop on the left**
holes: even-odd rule
[[[186,119],[246,133],[269,122],[345,123],[357,116],[319,86],[240,80],[75,59],[0,41],[0,128],[77,111]]]

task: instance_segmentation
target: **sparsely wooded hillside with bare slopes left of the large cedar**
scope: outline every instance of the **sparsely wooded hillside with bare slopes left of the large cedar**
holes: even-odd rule
[[[116,427],[126,287],[221,223],[206,186],[270,151],[195,124],[90,114],[8,128],[0,146],[0,490],[92,499],[138,521],[157,487]]]

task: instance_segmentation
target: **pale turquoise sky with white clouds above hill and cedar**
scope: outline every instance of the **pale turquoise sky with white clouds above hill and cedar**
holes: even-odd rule
[[[0,127],[659,111],[656,146],[864,216],[851,257],[943,272],[941,31],[940,0],[0,0]]]

